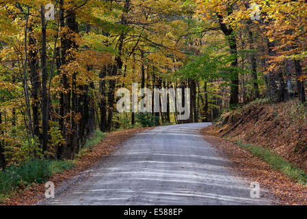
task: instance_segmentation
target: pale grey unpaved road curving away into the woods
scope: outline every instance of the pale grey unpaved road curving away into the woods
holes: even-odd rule
[[[267,205],[200,135],[209,123],[144,131],[48,205]]]

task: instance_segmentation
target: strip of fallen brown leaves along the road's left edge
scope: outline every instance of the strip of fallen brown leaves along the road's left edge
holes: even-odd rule
[[[145,129],[148,128],[129,129],[107,133],[101,143],[93,146],[89,151],[83,153],[83,155],[75,160],[75,168],[66,170],[61,174],[53,175],[50,179],[47,179],[47,181],[53,182],[55,188],[57,188],[62,182],[73,179],[79,175],[86,177],[87,170],[90,170],[98,162],[101,162],[101,160],[108,157],[108,155],[114,153],[114,151],[120,147],[122,142]],[[36,184],[17,192],[1,205],[34,205],[44,198],[45,191],[46,188],[44,188],[43,183]]]

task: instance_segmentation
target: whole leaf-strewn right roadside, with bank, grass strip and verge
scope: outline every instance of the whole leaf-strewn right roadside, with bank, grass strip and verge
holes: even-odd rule
[[[254,102],[202,130],[240,177],[257,181],[283,205],[307,205],[307,110],[297,100]]]

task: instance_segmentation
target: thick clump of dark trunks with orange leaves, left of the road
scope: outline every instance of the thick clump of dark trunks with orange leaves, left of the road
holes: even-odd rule
[[[62,66],[74,60],[72,49],[78,49],[71,35],[79,32],[79,25],[75,11],[64,12],[64,0],[59,1],[59,7],[60,27],[61,29],[67,27],[68,31],[61,35],[61,47],[59,56],[57,56],[57,72],[62,76],[63,86],[59,99],[59,125],[65,140],[64,144],[57,147],[57,159],[72,159],[75,154],[79,153],[86,139],[94,133],[94,101],[88,93],[89,87],[94,90],[94,83],[91,81],[89,86],[78,86],[77,73],[72,73],[71,81],[69,81],[68,75],[62,72]],[[87,31],[90,31],[90,26],[87,26]]]

